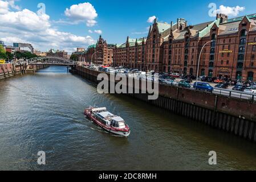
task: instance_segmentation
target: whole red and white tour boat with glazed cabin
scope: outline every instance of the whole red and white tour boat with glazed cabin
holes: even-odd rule
[[[124,119],[109,113],[106,107],[91,107],[84,110],[84,115],[92,119],[108,133],[128,137],[131,133],[129,126],[125,123]]]

